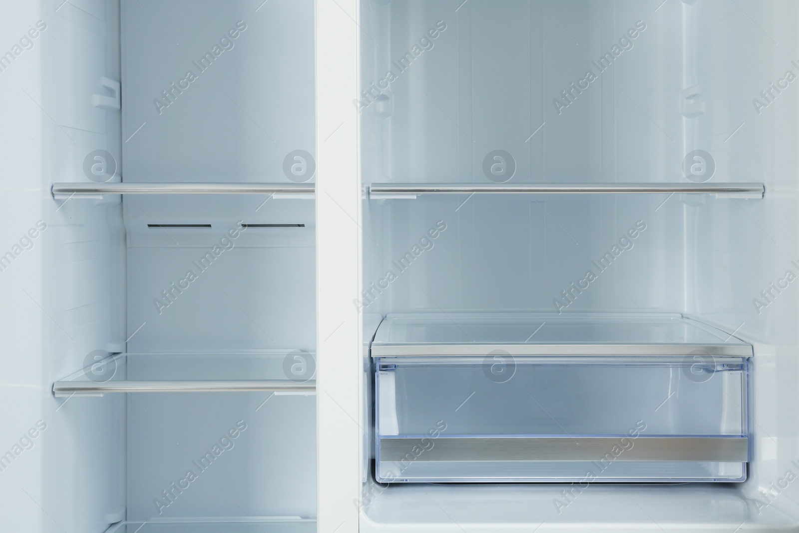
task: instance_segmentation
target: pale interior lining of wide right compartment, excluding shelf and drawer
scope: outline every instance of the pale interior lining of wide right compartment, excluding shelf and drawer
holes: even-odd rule
[[[796,527],[797,22],[779,0],[360,3],[361,531]],[[368,190],[501,182],[762,183],[765,195]],[[376,483],[377,324],[434,313],[454,330],[457,313],[502,312],[676,313],[751,344],[745,481]],[[422,394],[451,391],[439,416],[451,420],[464,387],[441,377]]]

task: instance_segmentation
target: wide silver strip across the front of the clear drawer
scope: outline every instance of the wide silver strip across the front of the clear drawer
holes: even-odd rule
[[[620,455],[610,450],[633,446]],[[380,439],[380,461],[399,462],[411,454],[416,461],[709,461],[741,462],[749,460],[745,436],[630,436],[615,437],[447,437]],[[411,452],[415,447],[422,454]]]

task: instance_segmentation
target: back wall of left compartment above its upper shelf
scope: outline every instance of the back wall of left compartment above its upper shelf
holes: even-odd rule
[[[312,2],[147,0],[123,17],[125,138],[145,124],[125,142],[126,181],[288,181],[284,157],[314,152]]]

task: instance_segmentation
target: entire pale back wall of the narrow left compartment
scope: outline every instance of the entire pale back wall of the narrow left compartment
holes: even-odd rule
[[[125,181],[291,182],[283,169],[288,153],[315,152],[313,3],[259,3],[123,2]],[[237,37],[221,42],[232,29]],[[201,72],[194,62],[215,45],[218,57]],[[161,92],[188,70],[197,79],[188,88],[183,82],[181,93],[173,90],[159,113],[153,100],[168,103]],[[201,257],[240,222],[304,227],[237,230],[222,243],[228,249],[201,268]],[[211,227],[148,226],[175,224]],[[136,332],[130,352],[316,351],[314,202],[126,197],[125,225],[127,325]],[[162,291],[189,270],[197,279],[166,300]],[[169,305],[159,308],[157,299]],[[129,519],[316,517],[313,396],[134,400]],[[247,430],[199,473],[193,461],[239,420]],[[189,469],[197,481],[159,509],[153,500]]]

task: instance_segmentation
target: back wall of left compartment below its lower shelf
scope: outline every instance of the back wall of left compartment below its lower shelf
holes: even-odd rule
[[[128,519],[316,517],[316,398],[271,395],[153,393],[129,400]],[[241,424],[246,429],[223,443],[221,455],[201,463]],[[187,471],[197,479],[169,502],[161,491],[173,490]]]

